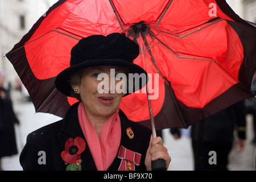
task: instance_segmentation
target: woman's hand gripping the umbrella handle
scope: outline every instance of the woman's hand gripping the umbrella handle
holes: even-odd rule
[[[166,168],[168,169],[171,162],[171,157],[167,152],[167,148],[163,146],[163,140],[161,137],[153,139],[152,135],[150,138],[150,144],[147,149],[145,165],[147,171],[151,171],[151,160],[163,159],[166,162]]]

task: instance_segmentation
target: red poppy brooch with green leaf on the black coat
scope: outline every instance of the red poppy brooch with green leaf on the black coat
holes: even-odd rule
[[[66,171],[81,171],[81,156],[85,150],[85,141],[81,137],[69,138],[65,143],[65,150],[60,156],[67,166]]]

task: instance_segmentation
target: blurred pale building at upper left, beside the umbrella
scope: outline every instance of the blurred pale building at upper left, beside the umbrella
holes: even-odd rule
[[[57,0],[0,0],[0,70],[6,84],[19,80],[13,65],[3,57]]]

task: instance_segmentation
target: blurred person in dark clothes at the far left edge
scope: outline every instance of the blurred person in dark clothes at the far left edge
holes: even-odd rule
[[[11,103],[9,90],[4,88],[5,73],[0,71],[0,171],[1,158],[18,154],[14,123],[19,123]]]

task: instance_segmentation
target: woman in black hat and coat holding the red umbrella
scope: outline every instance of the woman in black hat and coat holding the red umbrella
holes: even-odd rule
[[[61,121],[28,135],[20,154],[23,169],[151,170],[151,160],[157,159],[164,159],[168,168],[171,158],[162,139],[153,139],[150,130],[127,119],[119,109],[122,97],[130,92],[113,92],[113,85],[104,85],[104,92],[99,92],[102,80],[98,76],[104,73],[108,76],[104,79],[110,80],[110,69],[115,76],[146,74],[133,64],[138,55],[138,45],[125,34],[81,39],[72,48],[71,67],[55,81],[61,93],[80,102],[72,105]],[[114,88],[121,81],[115,79]]]

